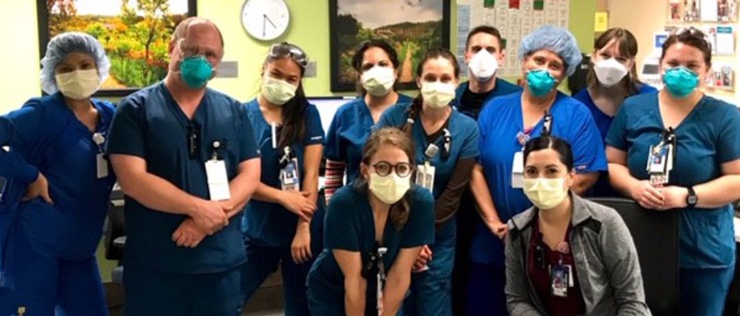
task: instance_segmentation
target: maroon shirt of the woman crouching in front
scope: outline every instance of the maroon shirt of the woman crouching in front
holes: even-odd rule
[[[534,284],[539,300],[545,306],[545,310],[551,316],[573,316],[582,315],[586,312],[586,304],[583,301],[581,288],[578,284],[578,275],[576,273],[576,264],[573,261],[573,253],[568,250],[567,253],[560,253],[557,250],[551,250],[545,242],[542,241],[542,233],[539,233],[539,221],[537,216],[533,220],[532,238],[529,241],[529,260],[527,262],[527,274]],[[568,242],[568,235],[571,233],[572,226],[568,226],[568,232],[565,233],[565,241]],[[537,250],[537,246],[541,250]],[[540,253],[538,255],[537,253]],[[544,261],[542,266],[538,258]],[[571,265],[573,273],[573,287],[568,287],[568,296],[565,298],[552,294],[550,281],[551,267],[555,267],[558,261],[562,264]]]

